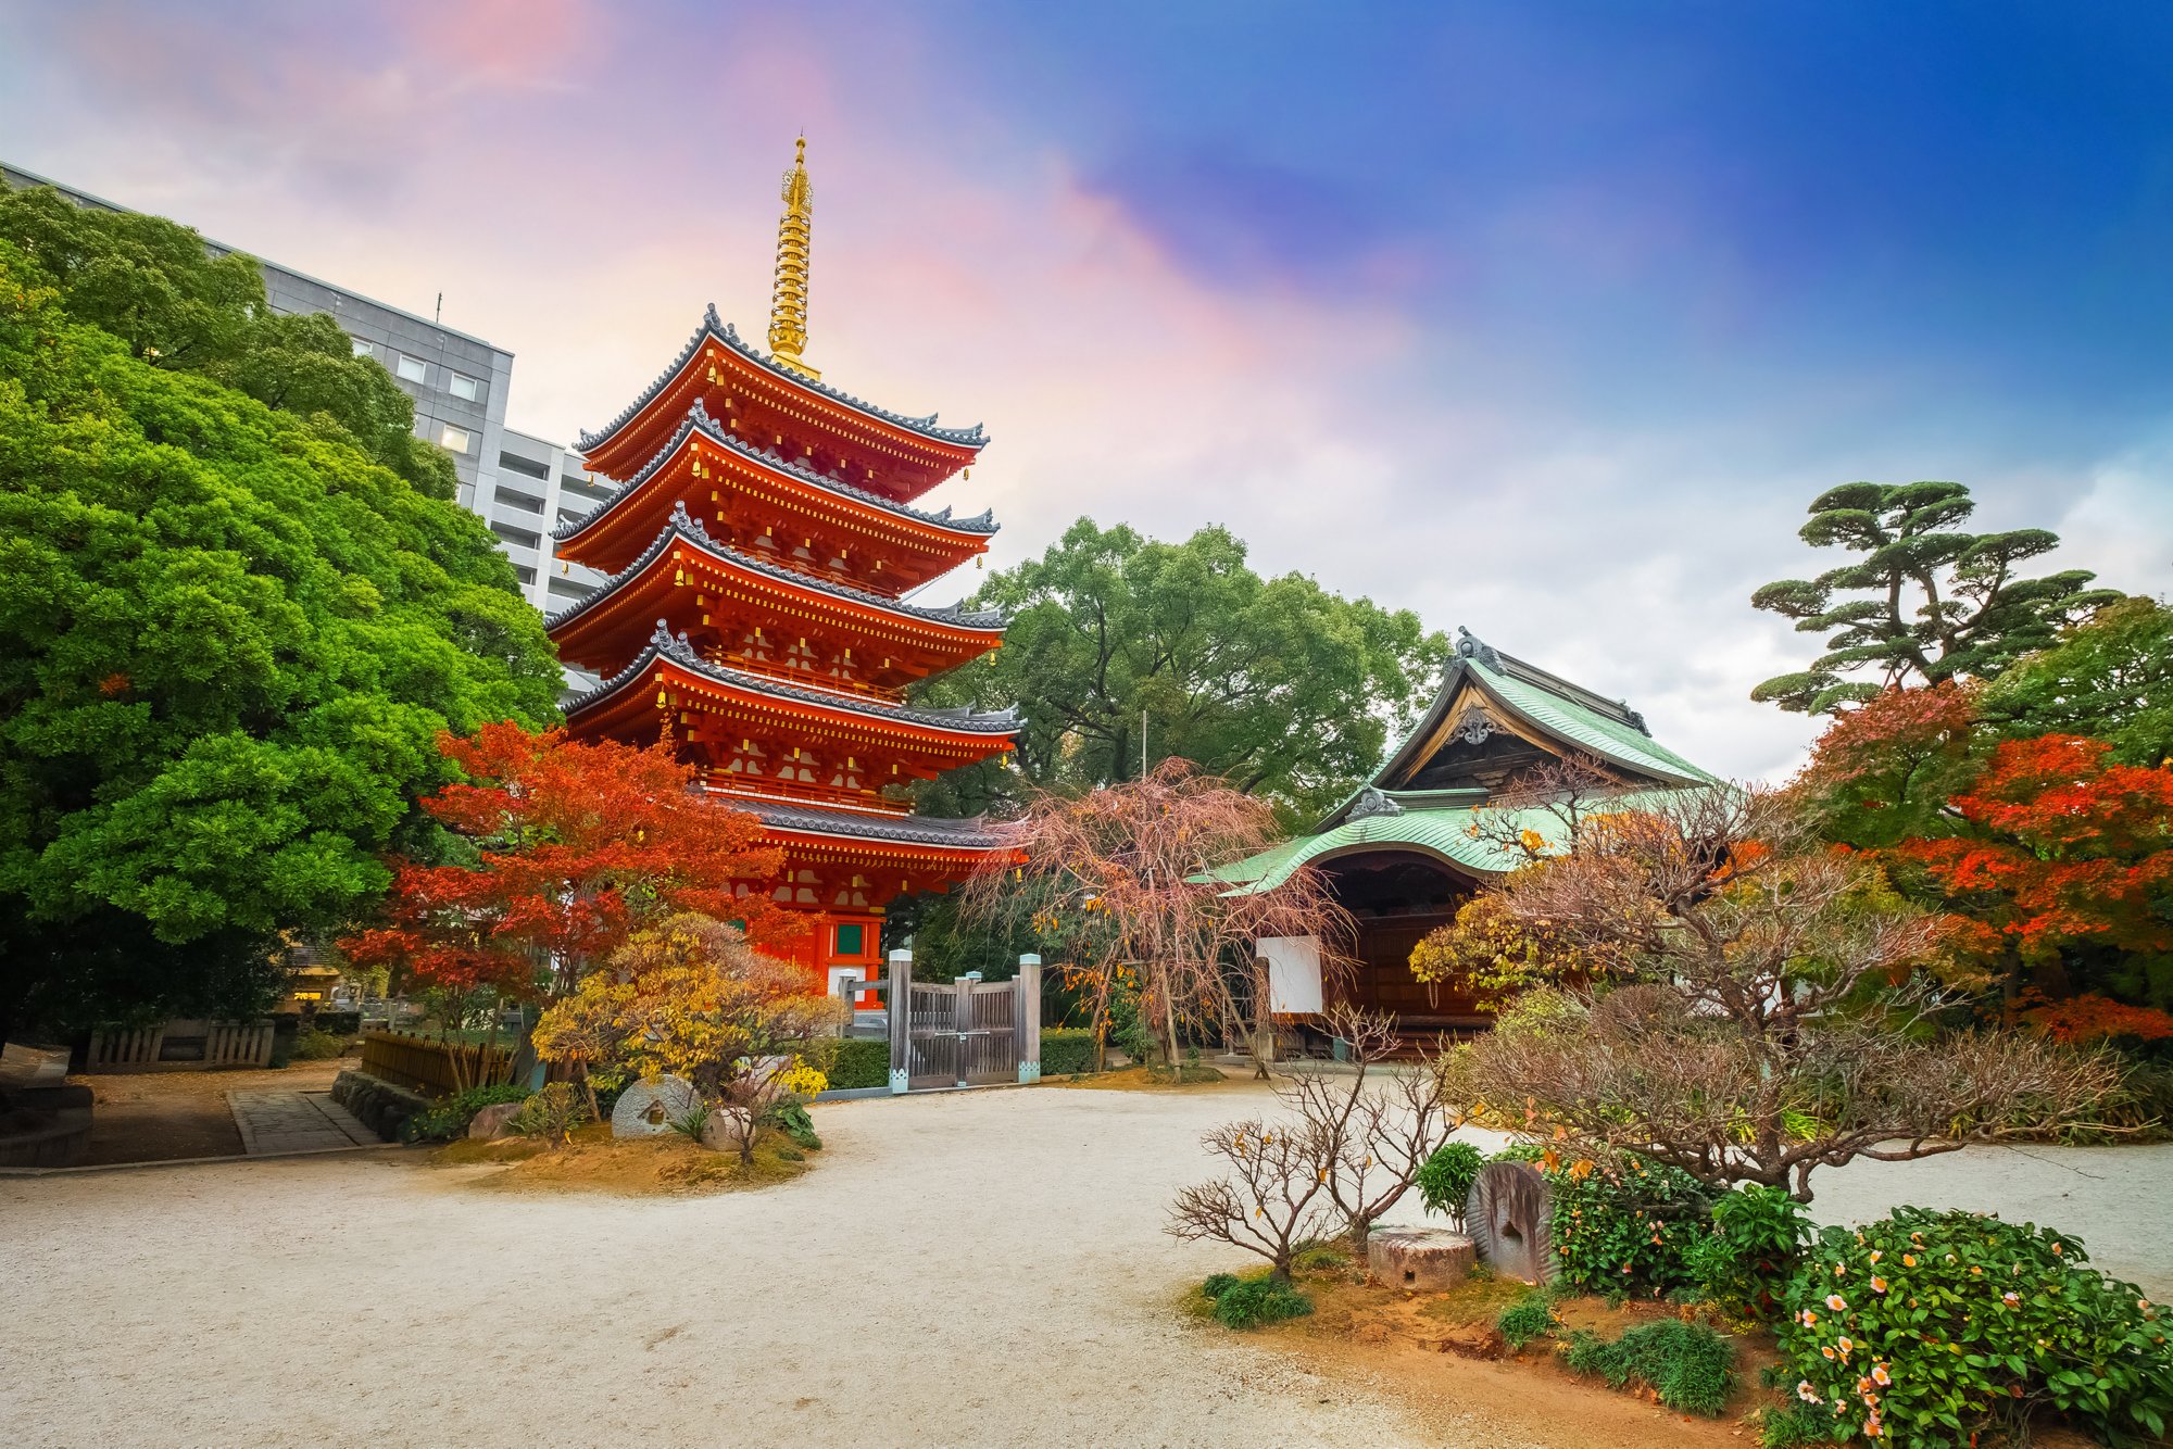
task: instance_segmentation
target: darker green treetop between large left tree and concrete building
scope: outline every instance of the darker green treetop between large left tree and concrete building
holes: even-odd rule
[[[120,337],[128,356],[200,371],[265,406],[311,417],[432,497],[452,497],[452,461],[415,437],[415,404],[328,313],[280,317],[263,274],[213,254],[165,217],[76,206],[52,187],[0,187],[0,237],[22,248],[76,319]]]

